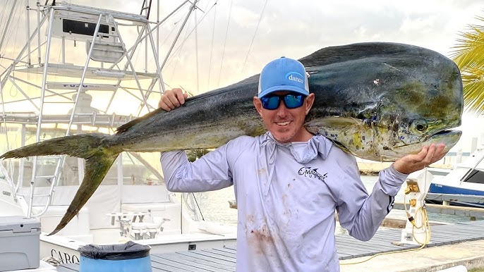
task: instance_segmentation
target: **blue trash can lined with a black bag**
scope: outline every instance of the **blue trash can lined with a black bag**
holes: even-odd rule
[[[128,241],[119,245],[80,247],[79,272],[152,272],[149,245]]]

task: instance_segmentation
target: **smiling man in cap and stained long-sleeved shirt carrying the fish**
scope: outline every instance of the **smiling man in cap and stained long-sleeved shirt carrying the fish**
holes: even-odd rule
[[[173,89],[159,106],[169,111],[186,97]],[[279,58],[263,68],[253,98],[268,132],[238,137],[193,163],[184,152],[162,154],[172,192],[234,185],[237,271],[339,271],[334,211],[350,235],[370,240],[406,176],[444,156],[444,144],[404,156],[380,171],[368,195],[354,156],[303,127],[314,98],[303,65]]]

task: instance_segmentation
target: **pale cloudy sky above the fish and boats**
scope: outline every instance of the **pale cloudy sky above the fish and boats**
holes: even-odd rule
[[[301,58],[323,47],[356,42],[400,42],[450,56],[459,32],[478,23],[477,16],[484,16],[482,0],[219,0],[214,5],[215,1],[200,1],[196,16],[187,23],[193,30],[195,19],[202,19],[196,31],[189,36],[181,32],[183,45],[176,44],[163,69],[168,87],[183,87],[198,94],[260,73],[265,63],[280,56]],[[139,13],[143,3],[68,2],[132,13]],[[156,20],[157,1],[152,2],[155,6],[150,19]],[[159,18],[164,18],[181,1],[161,3]],[[167,37],[161,55],[168,51],[184,16],[186,9],[160,28],[160,37]],[[462,128],[463,138],[479,137],[484,142],[483,118],[465,113]],[[466,150],[467,146],[468,140],[461,141],[456,149]]]

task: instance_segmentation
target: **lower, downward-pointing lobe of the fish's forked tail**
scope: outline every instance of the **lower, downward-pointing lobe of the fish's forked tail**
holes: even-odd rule
[[[80,184],[78,192],[75,193],[71,205],[68,206],[66,214],[64,214],[61,222],[59,222],[56,229],[52,231],[52,233],[49,233],[49,235],[58,233],[59,230],[65,227],[67,223],[78,214],[87,200],[89,200],[92,194],[94,194],[97,187],[99,187],[104,176],[106,176],[107,171],[109,171],[109,168],[111,168],[111,165],[114,163],[118,155],[119,154],[108,155],[103,152],[97,152],[85,160],[86,166],[83,182]]]

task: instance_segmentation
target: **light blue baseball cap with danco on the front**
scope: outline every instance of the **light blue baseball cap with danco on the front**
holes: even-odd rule
[[[303,63],[282,56],[267,63],[259,77],[258,97],[264,97],[271,92],[292,91],[308,95],[308,75]]]

